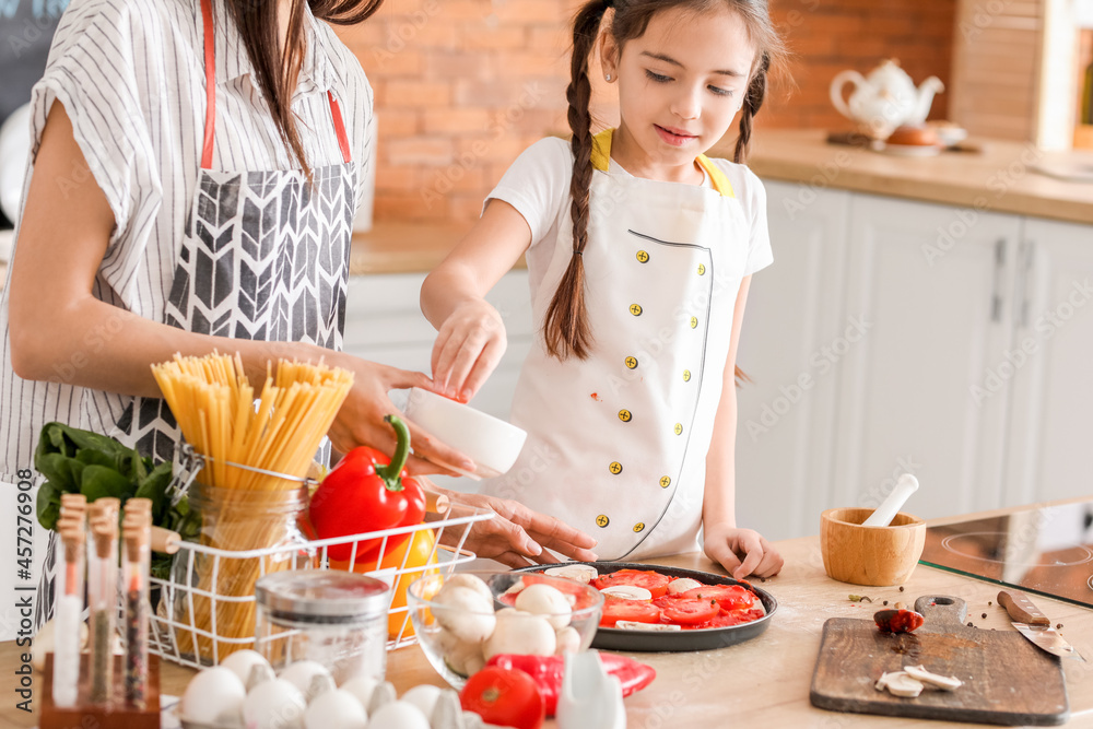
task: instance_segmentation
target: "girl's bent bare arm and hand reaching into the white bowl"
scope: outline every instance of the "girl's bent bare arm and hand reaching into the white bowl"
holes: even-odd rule
[[[473,398],[505,354],[505,325],[484,297],[530,245],[524,215],[504,200],[491,200],[474,228],[425,279],[421,310],[437,329],[433,379],[449,398]]]

